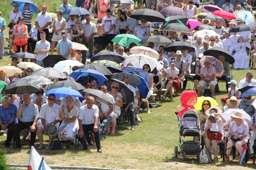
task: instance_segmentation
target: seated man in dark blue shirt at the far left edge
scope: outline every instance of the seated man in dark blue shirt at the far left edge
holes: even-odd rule
[[[10,148],[10,142],[13,137],[13,128],[18,123],[16,118],[17,107],[10,103],[9,97],[1,98],[0,105],[0,125],[2,130],[7,130],[7,139],[4,142],[5,148]]]

